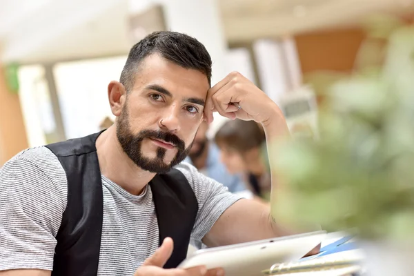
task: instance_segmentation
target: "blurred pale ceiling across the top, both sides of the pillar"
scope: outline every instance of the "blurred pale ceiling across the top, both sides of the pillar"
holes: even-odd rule
[[[172,0],[170,0],[172,1]],[[157,0],[137,0],[142,10]],[[217,0],[230,43],[353,26],[369,12],[413,11],[414,0]],[[130,0],[0,0],[3,61],[125,54]]]

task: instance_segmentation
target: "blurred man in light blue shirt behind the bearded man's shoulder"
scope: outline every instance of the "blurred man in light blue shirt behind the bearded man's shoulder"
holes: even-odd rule
[[[219,148],[207,138],[208,124],[201,122],[195,135],[193,146],[184,160],[197,168],[202,174],[218,181],[228,188],[231,193],[248,193],[239,175],[230,174],[220,161]],[[251,196],[249,194],[245,196]]]

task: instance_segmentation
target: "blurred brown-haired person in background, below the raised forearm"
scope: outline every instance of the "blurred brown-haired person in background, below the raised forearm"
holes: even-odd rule
[[[270,170],[263,128],[255,121],[226,121],[217,131],[215,143],[228,172],[242,173],[254,195],[270,200]]]

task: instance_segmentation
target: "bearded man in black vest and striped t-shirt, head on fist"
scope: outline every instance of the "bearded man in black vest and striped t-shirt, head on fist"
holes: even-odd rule
[[[174,268],[190,236],[221,246],[286,235],[268,206],[175,167],[215,110],[259,122],[268,141],[287,134],[253,83],[234,72],[210,88],[210,77],[196,39],[152,33],[108,85],[114,126],[10,159],[0,172],[0,275],[222,275]]]

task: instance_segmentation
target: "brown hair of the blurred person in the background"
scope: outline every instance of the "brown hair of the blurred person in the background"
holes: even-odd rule
[[[255,121],[235,119],[226,121],[215,135],[217,146],[227,146],[238,152],[246,152],[262,146],[266,141],[264,130]]]

